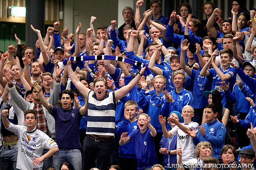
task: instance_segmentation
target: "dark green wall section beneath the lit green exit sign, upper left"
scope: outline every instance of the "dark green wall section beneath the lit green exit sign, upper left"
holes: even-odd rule
[[[11,33],[11,27],[12,33]],[[12,41],[10,41],[10,33]],[[0,50],[5,52],[8,50],[8,44],[14,44],[16,46],[18,42],[15,40],[14,34],[17,34],[22,44],[25,44],[25,23],[7,23],[0,22]]]

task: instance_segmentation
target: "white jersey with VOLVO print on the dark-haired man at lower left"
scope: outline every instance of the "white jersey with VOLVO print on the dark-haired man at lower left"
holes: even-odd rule
[[[58,147],[57,143],[53,141],[48,135],[41,130],[33,130],[27,132],[25,126],[15,125],[10,123],[7,128],[11,132],[15,133],[19,137],[18,141],[18,158],[16,168],[21,170],[42,170],[43,162],[39,166],[34,166],[34,158],[39,158],[43,155],[44,149],[51,149],[52,147]]]

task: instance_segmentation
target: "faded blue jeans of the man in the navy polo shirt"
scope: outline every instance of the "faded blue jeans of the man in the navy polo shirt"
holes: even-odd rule
[[[69,162],[74,166],[75,170],[82,170],[82,155],[78,149],[59,149],[53,155],[53,165],[56,170],[60,169],[63,162]]]

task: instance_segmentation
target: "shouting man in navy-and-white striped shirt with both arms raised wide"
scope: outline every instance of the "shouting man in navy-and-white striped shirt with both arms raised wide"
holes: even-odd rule
[[[88,101],[87,136],[84,139],[83,147],[83,169],[89,170],[95,167],[95,160],[97,159],[96,167],[101,170],[107,170],[113,147],[117,101],[136,86],[146,67],[142,68],[140,73],[127,86],[109,93],[108,83],[105,78],[101,77],[94,80],[94,91],[91,91],[74,74],[70,58],[67,68],[71,81]]]

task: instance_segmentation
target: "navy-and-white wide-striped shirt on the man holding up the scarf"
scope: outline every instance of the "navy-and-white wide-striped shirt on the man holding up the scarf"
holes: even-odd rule
[[[88,117],[86,134],[112,135],[115,132],[116,101],[114,91],[98,100],[91,90],[88,94]]]

